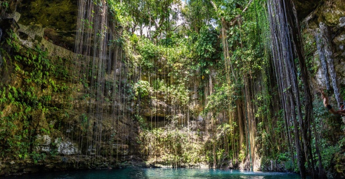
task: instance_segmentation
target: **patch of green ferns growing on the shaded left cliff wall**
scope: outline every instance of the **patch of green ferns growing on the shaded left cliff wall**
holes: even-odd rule
[[[47,118],[61,107],[59,102],[53,104],[52,99],[69,90],[66,83],[57,84],[53,77],[70,78],[61,59],[55,66],[47,51],[38,46],[34,49],[20,46],[15,33],[7,43],[11,43],[7,44],[11,54],[6,54],[4,59],[14,71],[9,84],[0,83],[0,157],[26,159],[30,156],[37,162],[45,154],[33,152],[36,136],[55,131],[53,124],[47,124]]]

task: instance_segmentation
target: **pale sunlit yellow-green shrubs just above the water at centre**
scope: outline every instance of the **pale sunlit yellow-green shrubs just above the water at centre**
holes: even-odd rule
[[[176,121],[175,121],[176,122]],[[156,153],[162,164],[180,166],[197,164],[204,161],[202,145],[198,136],[189,133],[186,128],[177,129],[176,123],[153,130],[144,130],[140,134],[142,152],[155,161]]]

